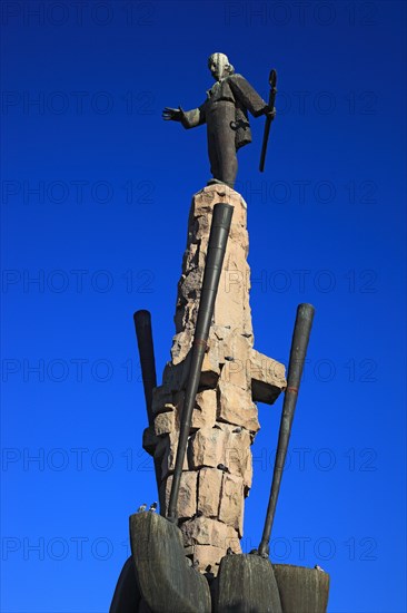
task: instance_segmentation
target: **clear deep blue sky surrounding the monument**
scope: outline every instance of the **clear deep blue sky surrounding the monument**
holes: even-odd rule
[[[229,55],[278,116],[239,153],[256,348],[287,363],[316,306],[274,562],[318,563],[330,613],[404,613],[406,4],[8,1],[2,10],[2,613],[101,613],[128,516],[157,498],[132,313],[159,377],[205,127],[163,124]],[[36,370],[37,369],[37,370]],[[244,548],[281,399],[259,406]],[[37,459],[34,459],[37,458]]]

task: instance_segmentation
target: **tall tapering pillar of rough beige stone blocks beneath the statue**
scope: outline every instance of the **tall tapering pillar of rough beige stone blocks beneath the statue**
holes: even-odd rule
[[[244,499],[252,477],[250,445],[260,427],[256,401],[271,405],[286,387],[284,366],[254,349],[247,205],[222,184],[207,186],[192,198],[171,361],[153,392],[155,429],[143,436],[145,449],[161,463],[160,504],[167,510],[211,216],[218,202],[232,205],[234,217],[178,502],[186,555],[200,571],[215,575],[229,547],[241,552]]]

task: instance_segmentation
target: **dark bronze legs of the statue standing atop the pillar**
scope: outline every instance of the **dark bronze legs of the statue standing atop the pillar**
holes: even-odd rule
[[[214,103],[207,113],[208,153],[214,178],[234,187],[237,175],[235,137],[235,104]]]

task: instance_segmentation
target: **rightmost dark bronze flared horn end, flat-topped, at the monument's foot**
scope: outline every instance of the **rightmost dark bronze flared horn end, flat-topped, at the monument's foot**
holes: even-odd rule
[[[328,606],[329,575],[316,568],[274,564],[284,613],[325,613]]]

